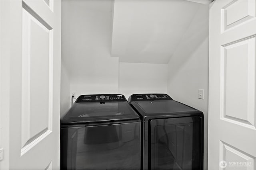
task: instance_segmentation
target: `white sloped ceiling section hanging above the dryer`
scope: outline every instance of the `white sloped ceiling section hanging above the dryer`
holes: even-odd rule
[[[168,63],[200,5],[186,0],[114,0],[111,56],[119,62]]]

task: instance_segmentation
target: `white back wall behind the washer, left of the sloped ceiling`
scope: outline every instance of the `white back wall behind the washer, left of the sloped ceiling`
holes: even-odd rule
[[[70,91],[118,93],[118,58],[111,57],[112,0],[62,0],[62,59]]]

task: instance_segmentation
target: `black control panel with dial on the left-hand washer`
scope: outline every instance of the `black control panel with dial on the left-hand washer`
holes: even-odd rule
[[[83,102],[122,102],[126,101],[126,98],[122,94],[88,94],[81,95],[76,100],[76,103]]]

